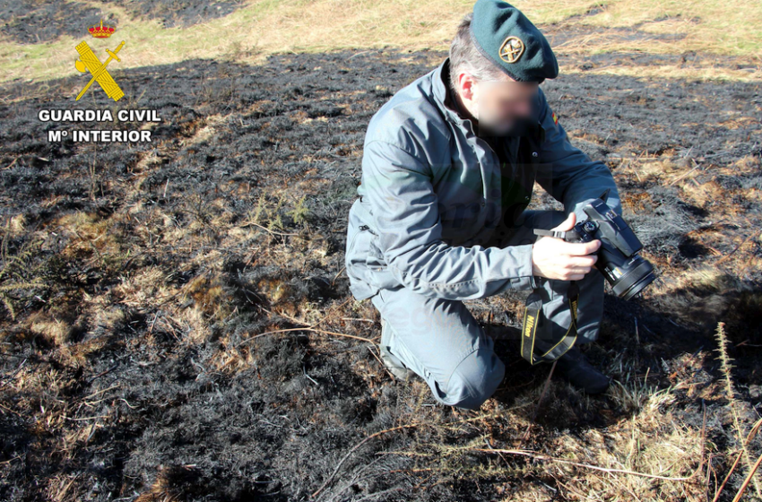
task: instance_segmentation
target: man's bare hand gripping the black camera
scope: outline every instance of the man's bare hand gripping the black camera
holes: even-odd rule
[[[574,228],[575,213],[551,230]],[[541,237],[532,247],[532,273],[559,281],[580,281],[585,273],[592,270],[598,255],[591,255],[601,247],[599,239],[590,242],[567,242],[562,238]]]

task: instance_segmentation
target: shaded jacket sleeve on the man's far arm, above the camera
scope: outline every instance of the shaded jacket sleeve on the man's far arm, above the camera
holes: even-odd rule
[[[582,211],[584,203],[599,198],[607,189],[606,203],[621,214],[619,191],[608,166],[600,160],[591,160],[584,151],[572,146],[564,127],[554,120],[542,91],[539,91],[539,100],[545,141],[540,151],[537,182],[563,203],[567,212],[575,212],[576,221],[587,219]]]

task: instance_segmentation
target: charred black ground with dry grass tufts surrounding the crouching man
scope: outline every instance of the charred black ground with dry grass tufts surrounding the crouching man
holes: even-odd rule
[[[126,91],[117,108],[159,110],[146,145],[48,143],[50,128],[115,127],[37,120],[70,105],[79,75],[5,86],[0,498],[578,499],[579,487],[616,487],[477,448],[594,464],[635,430],[629,468],[709,468],[702,482],[635,478],[644,484],[628,489],[714,494],[740,445],[735,424],[748,431],[762,411],[759,83],[581,73],[543,84],[573,141],[612,169],[660,281],[642,299],[606,298],[587,353],[619,381],[609,394],[553,380],[538,409],[549,368],[498,340],[504,385],[480,412],[459,413],[385,372],[377,312],[351,298],[342,270],[368,120],[445,56],[114,70]],[[605,57],[641,56],[594,62]],[[84,101],[115,108],[100,90]],[[537,191],[533,206],[553,202]],[[469,305],[497,333],[522,298]],[[657,447],[674,437],[687,438],[680,452]]]

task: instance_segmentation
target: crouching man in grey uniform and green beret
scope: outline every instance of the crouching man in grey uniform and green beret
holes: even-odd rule
[[[347,229],[350,289],[380,313],[386,366],[402,378],[414,372],[443,404],[478,409],[505,376],[463,300],[508,289],[540,293],[538,343],[576,327],[557,372],[590,394],[609,385],[577,349],[599,332],[601,241],[533,234],[571,229],[584,203],[607,190],[621,212],[610,170],[569,143],[540,89],[558,74],[550,44],[523,13],[478,0],[449,56],[368,124]],[[526,210],[535,181],[564,212]]]

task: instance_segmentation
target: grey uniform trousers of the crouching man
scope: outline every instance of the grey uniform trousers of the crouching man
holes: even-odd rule
[[[566,214],[559,211],[524,211],[509,235],[489,246],[533,243],[537,239],[533,229],[552,229],[565,218]],[[570,282],[541,277],[535,280],[543,304],[537,337],[559,339],[570,322],[565,294]],[[576,344],[593,342],[598,337],[603,282],[602,274],[594,267],[577,281]],[[385,319],[389,351],[426,381],[437,402],[477,410],[495,393],[506,366],[493,351],[494,340],[463,301],[429,298],[403,286],[379,290],[370,300]]]

